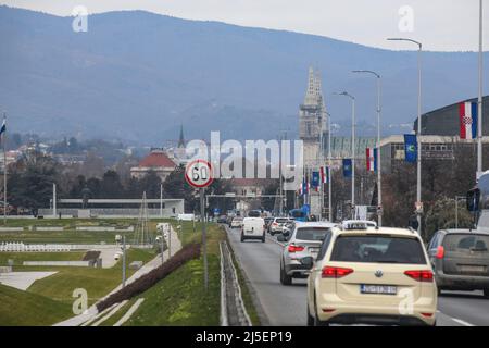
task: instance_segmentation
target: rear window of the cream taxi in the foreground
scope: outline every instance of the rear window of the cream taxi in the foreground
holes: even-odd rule
[[[331,261],[426,264],[418,239],[393,236],[339,236]]]

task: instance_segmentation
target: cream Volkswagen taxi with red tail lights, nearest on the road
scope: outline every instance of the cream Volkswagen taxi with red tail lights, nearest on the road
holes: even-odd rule
[[[419,235],[409,228],[334,227],[308,278],[308,325],[436,325],[438,293]]]

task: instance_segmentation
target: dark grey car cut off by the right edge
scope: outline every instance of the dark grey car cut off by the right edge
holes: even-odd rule
[[[489,233],[438,231],[428,244],[438,291],[482,290],[489,298]]]

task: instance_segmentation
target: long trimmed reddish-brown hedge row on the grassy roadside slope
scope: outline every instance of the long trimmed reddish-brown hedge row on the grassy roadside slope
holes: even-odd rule
[[[170,260],[160,265],[159,268],[150,271],[149,273],[141,275],[135,282],[126,285],[124,288],[115,294],[112,294],[103,301],[97,303],[99,312],[111,307],[114,303],[128,300],[139,294],[145,293],[154,284],[165,278],[170,273],[178,269],[180,265],[189,260],[198,259],[200,257],[200,244],[189,244],[181,250],[175,253]]]

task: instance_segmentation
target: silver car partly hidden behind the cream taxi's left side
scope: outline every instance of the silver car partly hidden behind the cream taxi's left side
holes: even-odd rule
[[[306,265],[301,259],[313,257],[316,259],[325,235],[335,227],[329,222],[296,222],[293,229],[277,237],[278,241],[286,243],[280,257],[280,283],[291,285],[292,278],[306,278]]]

